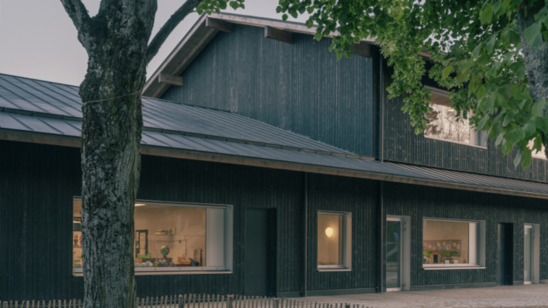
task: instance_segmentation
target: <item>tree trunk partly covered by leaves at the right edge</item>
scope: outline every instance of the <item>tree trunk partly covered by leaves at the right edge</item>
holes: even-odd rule
[[[540,46],[532,46],[525,40],[525,29],[535,22],[536,14],[545,5],[544,0],[525,1],[518,12],[519,32],[523,52],[523,62],[529,83],[529,91],[535,101],[548,99],[548,42],[544,41]],[[548,116],[548,108],[545,108],[544,116]],[[548,136],[543,135],[545,154],[548,157]]]

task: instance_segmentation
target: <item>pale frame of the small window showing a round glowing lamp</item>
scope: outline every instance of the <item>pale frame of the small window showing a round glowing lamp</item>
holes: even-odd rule
[[[343,263],[338,265],[321,265],[317,264],[316,266],[320,272],[329,272],[329,271],[350,271],[352,270],[352,214],[347,211],[318,211],[318,216],[320,215],[336,215],[343,217]],[[318,218],[316,218],[316,224],[318,223]],[[317,228],[316,228],[317,229]],[[318,237],[319,234],[316,234],[316,257],[318,252]]]

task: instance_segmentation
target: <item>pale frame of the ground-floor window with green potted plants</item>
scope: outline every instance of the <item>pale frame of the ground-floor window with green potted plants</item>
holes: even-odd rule
[[[424,270],[462,270],[485,268],[485,221],[484,220],[456,220],[443,218],[423,218],[425,220],[444,222],[469,223],[469,263],[467,264],[423,264]],[[424,227],[423,227],[424,228]],[[421,251],[424,243],[424,229],[422,230]],[[423,255],[421,254],[421,259]]]

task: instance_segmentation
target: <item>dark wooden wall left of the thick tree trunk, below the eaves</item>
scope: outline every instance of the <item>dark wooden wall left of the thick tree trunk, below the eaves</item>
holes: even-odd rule
[[[0,298],[70,298],[79,149],[0,141]]]

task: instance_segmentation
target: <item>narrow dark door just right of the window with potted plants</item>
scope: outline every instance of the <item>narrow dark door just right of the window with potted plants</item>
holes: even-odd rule
[[[498,227],[499,284],[512,285],[514,282],[514,225],[499,223]]]

